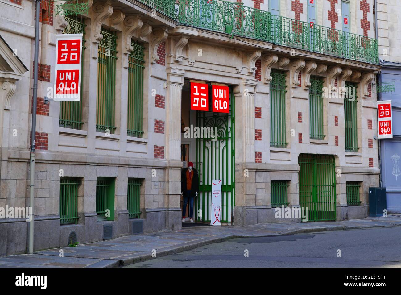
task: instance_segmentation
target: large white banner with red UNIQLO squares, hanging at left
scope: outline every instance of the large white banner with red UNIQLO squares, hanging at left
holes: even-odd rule
[[[55,101],[81,99],[82,34],[61,34],[56,38]]]

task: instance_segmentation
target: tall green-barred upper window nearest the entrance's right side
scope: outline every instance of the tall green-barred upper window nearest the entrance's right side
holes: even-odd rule
[[[271,70],[270,146],[286,147],[286,74]]]

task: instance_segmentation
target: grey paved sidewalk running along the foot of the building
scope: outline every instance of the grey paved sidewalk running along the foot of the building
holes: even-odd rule
[[[330,230],[351,230],[401,225],[401,215],[369,217],[339,222],[279,222],[253,226],[202,226],[123,236],[111,240],[0,257],[0,267],[119,267],[182,252],[238,237],[277,236]],[[64,256],[59,256],[59,251]]]

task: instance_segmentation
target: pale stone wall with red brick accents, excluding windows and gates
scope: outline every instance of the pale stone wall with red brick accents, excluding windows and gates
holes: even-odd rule
[[[364,0],[365,1],[365,0]],[[0,97],[1,174],[0,207],[25,207],[29,203],[29,144],[33,85],[32,56],[34,14],[30,0],[0,0],[5,26],[0,34],[11,49],[16,49],[20,66],[15,93],[9,108]],[[46,2],[46,1],[42,1]],[[295,5],[292,2],[297,2]],[[327,6],[318,6],[318,22],[326,25]],[[327,2],[327,3],[326,3]],[[333,1],[332,1],[333,2]],[[357,1],[359,2],[359,1]],[[368,0],[371,3],[372,0]],[[113,2],[115,3],[115,2]],[[377,141],[370,141],[377,124],[376,96],[367,91],[380,66],[331,55],[311,53],[255,39],[178,25],[168,16],[142,2],[89,1],[85,22],[83,53],[83,97],[81,130],[59,125],[60,103],[50,102],[37,112],[38,139],[35,166],[35,250],[66,246],[71,231],[79,243],[103,238],[103,226],[113,227],[113,237],[131,234],[127,208],[128,179],[140,179],[140,219],[144,232],[181,228],[180,171],[182,134],[182,87],[185,79],[231,85],[235,100],[235,226],[277,222],[271,206],[272,180],[288,181],[290,207],[299,207],[298,175],[300,154],[333,155],[336,176],[336,218],[361,218],[369,208],[368,187],[379,183]],[[268,10],[268,1],[245,5]],[[254,6],[256,5],[256,6]],[[302,11],[300,6],[304,6]],[[337,5],[337,4],[336,4]],[[122,7],[124,9],[122,9]],[[266,8],[267,7],[267,8]],[[281,14],[306,21],[304,1],[282,1]],[[293,9],[294,8],[294,9]],[[319,12],[319,9],[321,10]],[[359,15],[359,5],[354,10]],[[362,14],[361,14],[362,15]],[[372,20],[372,9],[368,19]],[[11,17],[12,16],[12,17]],[[13,19],[18,16],[21,25]],[[357,20],[358,20],[357,16]],[[363,16],[360,16],[363,17]],[[330,23],[330,21],[329,21]],[[373,25],[373,21],[370,22]],[[115,126],[113,134],[96,131],[97,50],[101,26],[117,33],[115,83]],[[55,71],[55,38],[66,26],[62,16],[54,24],[41,23],[40,63],[47,65],[40,74],[38,97],[47,96]],[[136,29],[132,29],[136,26]],[[355,27],[356,33],[360,30]],[[358,31],[359,30],[359,31]],[[369,33],[368,33],[369,35]],[[370,36],[370,35],[369,35]],[[143,124],[141,138],[127,136],[128,48],[131,38],[144,44]],[[4,47],[4,46],[3,46]],[[128,51],[127,51],[128,50]],[[202,54],[199,54],[199,53]],[[12,56],[12,51],[11,51]],[[15,58],[14,58],[15,59]],[[11,62],[10,62],[11,63]],[[271,69],[286,73],[285,148],[270,147],[269,83]],[[16,69],[13,69],[16,71]],[[311,75],[324,79],[329,95],[324,97],[323,140],[310,139],[308,90]],[[300,77],[300,79],[299,79]],[[358,151],[345,151],[344,97],[338,92],[345,81],[357,84]],[[334,86],[336,85],[336,86]],[[41,100],[38,100],[41,103]],[[234,111],[234,110],[233,110]],[[13,136],[17,130],[18,136]],[[47,134],[47,135],[45,135]],[[47,136],[47,137],[46,137]],[[300,140],[300,138],[302,140]],[[370,161],[373,165],[369,165]],[[245,176],[244,171],[248,174]],[[79,179],[77,224],[60,225],[60,177]],[[97,221],[96,183],[110,177],[115,183],[114,218]],[[361,183],[361,205],[347,206],[346,182]],[[297,220],[298,221],[298,220]],[[28,225],[23,220],[0,220],[0,255],[26,251]]]

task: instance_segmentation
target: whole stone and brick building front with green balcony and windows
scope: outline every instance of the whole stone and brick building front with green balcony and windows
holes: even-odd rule
[[[308,208],[309,221],[367,216],[380,173],[373,0],[89,0],[81,13],[58,2],[43,0],[39,16],[35,250],[66,246],[72,232],[83,244],[180,229],[188,161],[199,222],[211,218],[213,179],[226,226],[277,222],[283,205]],[[0,3],[0,207],[20,208],[34,2]],[[63,33],[84,34],[82,99],[46,104]],[[191,110],[191,83],[209,98],[229,87],[229,113],[211,100]],[[0,255],[24,253],[27,238],[25,220],[0,219]]]

